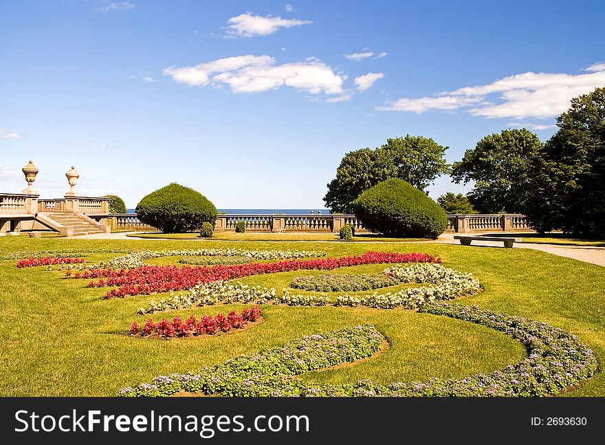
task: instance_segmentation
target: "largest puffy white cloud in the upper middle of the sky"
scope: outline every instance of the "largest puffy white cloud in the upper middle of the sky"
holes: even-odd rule
[[[219,58],[195,67],[168,67],[164,75],[192,86],[228,85],[234,93],[257,93],[285,85],[311,94],[341,94],[347,79],[317,58],[276,65],[273,57],[250,55]]]

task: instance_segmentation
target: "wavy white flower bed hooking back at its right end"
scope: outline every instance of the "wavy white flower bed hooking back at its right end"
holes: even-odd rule
[[[274,287],[250,287],[239,282],[214,281],[205,285],[196,285],[186,294],[171,294],[168,298],[151,301],[146,307],[141,307],[137,313],[151,314],[171,309],[188,308],[192,305],[206,306],[217,304],[250,303],[289,306],[367,306],[380,309],[404,307],[415,309],[433,301],[452,300],[463,296],[471,296],[481,291],[481,284],[472,274],[466,274],[445,268],[440,264],[419,263],[406,267],[395,265],[386,268],[384,274],[397,277],[398,283],[431,283],[419,287],[408,287],[399,292],[386,294],[365,295],[320,295],[291,294],[283,289],[281,294]]]

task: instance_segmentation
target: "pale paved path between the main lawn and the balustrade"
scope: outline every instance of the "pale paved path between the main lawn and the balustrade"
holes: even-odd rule
[[[144,239],[144,240],[153,240],[158,238],[135,238],[128,237],[127,235],[133,234],[137,232],[118,232],[118,233],[98,233],[95,235],[83,235],[79,237],[79,239]],[[437,241],[419,241],[423,243],[447,243],[447,244],[459,244],[460,241],[454,239],[455,233],[443,233],[441,237]],[[481,235],[475,234],[473,235]],[[514,235],[511,235],[514,236]],[[177,241],[177,240],[175,240]],[[204,241],[203,239],[191,239],[191,240],[182,240],[182,241]],[[208,240],[206,240],[208,241]],[[217,240],[219,241],[219,240]],[[252,241],[251,241],[252,242]],[[271,241],[259,241],[259,242],[271,242]],[[279,240],[278,242],[301,242],[301,243],[340,243],[341,241],[285,241]],[[359,241],[362,242],[362,241]],[[363,241],[364,243],[384,243],[386,241]],[[468,246],[468,248],[481,248],[481,247],[497,247],[504,248],[502,241],[472,241],[472,246]],[[538,243],[515,243],[514,248],[523,248],[523,249],[535,249],[542,250],[542,252],[547,252],[555,255],[559,255],[560,257],[567,257],[572,259],[577,259],[579,261],[585,261],[586,263],[593,263],[597,265],[605,266],[605,248],[596,247],[596,246],[553,246],[552,244],[538,244]]]

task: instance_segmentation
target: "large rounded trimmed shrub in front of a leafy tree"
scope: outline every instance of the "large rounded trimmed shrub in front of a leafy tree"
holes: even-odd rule
[[[353,204],[364,227],[386,236],[437,239],[448,225],[439,204],[397,178],[366,190]]]

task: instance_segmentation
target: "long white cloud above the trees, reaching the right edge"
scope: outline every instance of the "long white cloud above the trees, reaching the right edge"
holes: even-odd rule
[[[569,108],[571,98],[605,85],[605,63],[591,65],[586,72],[588,74],[527,72],[489,85],[446,91],[436,97],[401,98],[376,109],[423,113],[472,106],[468,110],[470,114],[485,118],[552,118]],[[494,103],[492,98],[487,101],[488,96],[494,94],[499,96],[500,103]]]

